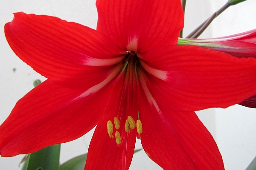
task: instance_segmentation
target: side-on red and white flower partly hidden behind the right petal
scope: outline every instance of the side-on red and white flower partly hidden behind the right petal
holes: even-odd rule
[[[235,57],[256,58],[256,29],[240,34],[213,39],[179,39],[179,45],[197,45],[222,51]],[[239,105],[256,108],[256,95],[245,99]]]

